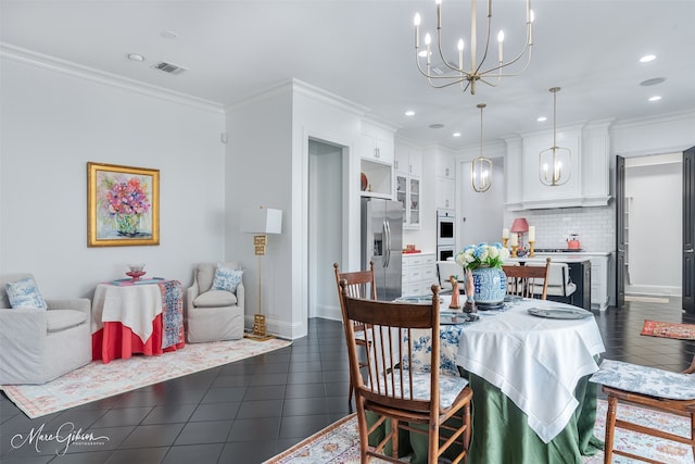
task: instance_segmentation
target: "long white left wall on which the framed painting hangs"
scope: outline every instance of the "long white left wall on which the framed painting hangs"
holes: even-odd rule
[[[3,55],[0,81],[0,273],[91,297],[129,262],[187,286],[223,259],[220,109],[33,57]],[[160,246],[87,247],[88,161],[160,170]]]

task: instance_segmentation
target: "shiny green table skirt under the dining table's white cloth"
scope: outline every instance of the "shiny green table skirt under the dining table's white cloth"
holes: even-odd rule
[[[603,449],[603,441],[594,437],[596,385],[587,378],[577,385],[574,398],[580,405],[569,423],[551,442],[544,443],[511,400],[482,377],[470,374],[473,401],[468,464],[582,464],[582,455],[596,454]],[[369,444],[376,444],[382,437],[383,430],[377,430],[369,437]],[[427,464],[426,436],[401,432],[399,440],[401,455],[412,453],[413,464]],[[390,453],[390,447],[387,452]]]

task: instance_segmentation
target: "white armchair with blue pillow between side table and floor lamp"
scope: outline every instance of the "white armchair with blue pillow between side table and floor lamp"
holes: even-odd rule
[[[241,271],[238,263],[220,263],[228,269]],[[243,337],[244,288],[213,288],[216,263],[200,263],[193,269],[193,285],[186,291],[186,339],[190,343],[236,340]]]

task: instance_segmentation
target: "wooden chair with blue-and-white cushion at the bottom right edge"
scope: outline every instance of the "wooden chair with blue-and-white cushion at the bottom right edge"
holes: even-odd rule
[[[681,374],[621,361],[604,360],[601,363],[598,372],[589,380],[601,384],[602,390],[608,397],[605,464],[611,462],[614,453],[640,461],[657,462],[629,451],[614,449],[616,427],[688,444],[695,456],[695,375],[693,373],[695,373],[695,356],[691,366]],[[634,424],[624,417],[618,418],[620,413],[618,403],[688,417],[690,437]]]

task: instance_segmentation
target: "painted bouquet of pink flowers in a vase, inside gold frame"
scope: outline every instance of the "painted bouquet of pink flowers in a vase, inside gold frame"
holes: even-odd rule
[[[140,215],[150,211],[148,187],[139,177],[118,179],[106,192],[106,209],[116,218],[118,234],[134,237],[138,234]]]

